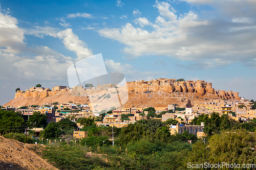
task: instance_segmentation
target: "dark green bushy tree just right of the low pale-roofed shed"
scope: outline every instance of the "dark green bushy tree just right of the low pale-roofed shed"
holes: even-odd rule
[[[58,124],[51,122],[47,125],[44,131],[41,131],[40,136],[44,137],[45,139],[54,139],[58,138],[61,134],[61,130]]]

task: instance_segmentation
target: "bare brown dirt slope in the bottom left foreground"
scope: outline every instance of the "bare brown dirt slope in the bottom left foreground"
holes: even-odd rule
[[[0,136],[0,169],[57,169],[30,151],[32,145]]]

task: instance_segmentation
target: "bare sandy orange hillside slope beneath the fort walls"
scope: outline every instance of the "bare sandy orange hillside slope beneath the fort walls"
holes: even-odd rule
[[[177,104],[179,107],[185,107],[185,104],[187,103],[187,99],[191,101],[191,103],[194,105],[195,103],[204,103],[209,102],[211,99],[215,100],[222,100],[218,98],[215,94],[206,93],[205,95],[201,96],[198,93],[166,93],[162,90],[159,90],[157,92],[129,92],[129,100],[122,106],[122,107],[128,107],[128,108],[145,108],[145,107],[163,107],[167,108],[169,104]],[[59,103],[67,103],[67,102],[75,102],[75,103],[90,103],[89,98],[86,96],[74,96],[71,93],[62,93],[62,94],[56,94],[54,96],[49,96],[47,98],[26,98],[24,99],[24,96],[20,98],[16,98],[11,100],[10,102],[6,103],[4,106],[28,106],[28,105],[44,105],[45,103],[53,103],[53,102],[59,102]],[[95,98],[95,101],[93,103],[101,103],[104,105],[104,107],[108,108],[108,106],[115,102],[112,101],[112,98],[110,99],[103,99],[101,98],[98,100]]]

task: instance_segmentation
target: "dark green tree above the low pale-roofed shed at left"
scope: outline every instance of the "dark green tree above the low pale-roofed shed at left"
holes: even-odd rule
[[[32,124],[34,124],[34,128],[45,128],[47,126],[47,115],[40,112],[34,112],[32,116],[29,117],[28,126],[32,128]]]

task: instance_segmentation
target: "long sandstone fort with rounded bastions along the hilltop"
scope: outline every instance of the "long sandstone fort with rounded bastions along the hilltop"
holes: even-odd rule
[[[15,94],[15,98],[19,98],[24,96],[24,98],[46,98],[48,96],[53,96],[56,94],[61,93],[71,93],[76,95],[83,95],[87,92],[90,93],[91,90],[102,91],[108,90],[109,88],[113,88],[119,85],[113,84],[106,84],[106,85],[97,85],[97,87],[89,87],[83,88],[83,86],[75,86],[70,88],[68,86],[55,86],[52,89],[44,88],[44,87],[31,87],[25,91],[18,90]],[[144,80],[136,80],[134,82],[126,82],[125,85],[127,90],[130,92],[146,92],[146,91],[159,91],[163,90],[167,93],[174,93],[174,92],[181,92],[181,93],[197,93],[201,96],[205,95],[206,93],[216,94],[218,98],[221,99],[237,99],[240,100],[241,97],[239,96],[238,92],[233,91],[224,91],[224,90],[215,90],[212,88],[211,83],[207,83],[204,80],[197,80],[197,81],[176,81],[176,79],[154,79],[151,81],[144,81]],[[122,88],[123,86],[119,86]]]

